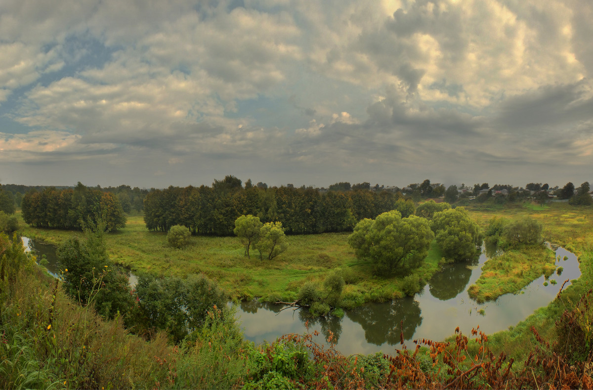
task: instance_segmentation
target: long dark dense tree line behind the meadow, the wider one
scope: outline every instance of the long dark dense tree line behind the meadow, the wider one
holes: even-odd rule
[[[253,215],[263,223],[281,222],[286,234],[313,234],[350,231],[359,220],[394,209],[411,215],[415,207],[401,194],[388,191],[243,188],[241,180],[227,176],[211,187],[171,186],[151,191],[144,202],[144,220],[151,231],[182,225],[193,234],[232,235],[237,218]]]

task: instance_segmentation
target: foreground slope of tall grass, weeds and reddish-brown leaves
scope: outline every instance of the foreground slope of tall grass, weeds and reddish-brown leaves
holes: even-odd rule
[[[500,341],[474,330],[446,343],[419,340],[394,356],[343,356],[315,344],[311,334],[285,335],[272,344],[242,340],[234,316],[213,306],[199,328],[176,344],[162,331],[130,334],[116,315],[96,314],[74,301],[64,282],[44,279],[20,240],[0,236],[0,386],[2,388],[568,388],[593,381],[589,295],[572,301],[575,283],[556,305],[567,310],[550,327],[530,332],[538,349],[524,364]],[[590,260],[590,259],[589,259]],[[589,270],[590,272],[590,270]],[[99,284],[100,285],[100,284]],[[100,289],[101,287],[97,287]],[[97,290],[98,291],[98,290]],[[525,334],[527,334],[525,332]],[[423,347],[421,348],[420,345]],[[533,347],[533,345],[531,345]]]

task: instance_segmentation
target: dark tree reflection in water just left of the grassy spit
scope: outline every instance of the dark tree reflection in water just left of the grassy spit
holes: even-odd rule
[[[467,266],[477,266],[478,260],[448,264],[445,268],[432,276],[430,284],[431,294],[441,301],[455,298],[463,292],[470,281],[471,270]]]

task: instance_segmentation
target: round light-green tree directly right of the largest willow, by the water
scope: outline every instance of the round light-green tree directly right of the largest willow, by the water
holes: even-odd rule
[[[460,261],[480,255],[482,233],[463,207],[435,213],[431,227],[445,257]]]

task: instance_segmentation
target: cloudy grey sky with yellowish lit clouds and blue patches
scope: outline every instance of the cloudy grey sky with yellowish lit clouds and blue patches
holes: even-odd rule
[[[590,0],[2,0],[0,183],[592,181]]]

